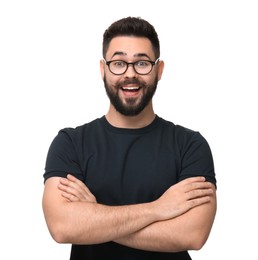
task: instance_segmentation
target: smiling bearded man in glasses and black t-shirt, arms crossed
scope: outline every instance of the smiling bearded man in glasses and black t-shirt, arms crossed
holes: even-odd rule
[[[43,210],[72,260],[191,259],[216,214],[212,154],[200,133],[154,113],[158,35],[141,18],[104,33],[101,75],[110,107],[62,129],[46,161]]]

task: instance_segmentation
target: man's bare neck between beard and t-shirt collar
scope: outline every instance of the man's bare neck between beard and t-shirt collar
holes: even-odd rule
[[[106,119],[115,127],[134,129],[149,125],[154,120],[155,116],[151,102],[136,116],[122,115],[112,106],[112,104],[110,104],[108,113],[106,114]]]

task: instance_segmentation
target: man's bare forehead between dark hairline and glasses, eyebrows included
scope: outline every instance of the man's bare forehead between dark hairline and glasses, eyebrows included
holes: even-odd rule
[[[154,51],[148,38],[118,36],[111,40],[106,56],[107,59],[111,59],[117,55],[128,58],[146,55],[150,58],[154,58]]]

